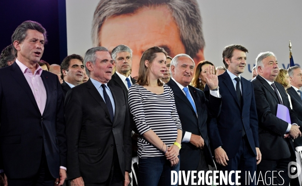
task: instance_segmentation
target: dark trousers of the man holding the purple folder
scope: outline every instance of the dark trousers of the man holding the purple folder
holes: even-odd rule
[[[262,159],[257,165],[257,177],[260,176],[261,172],[263,181],[259,181],[258,185],[288,185],[290,182],[287,168],[289,162],[290,158],[279,160]]]

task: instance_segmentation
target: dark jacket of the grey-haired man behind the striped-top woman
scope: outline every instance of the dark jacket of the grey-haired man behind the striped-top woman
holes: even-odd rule
[[[131,76],[130,76],[130,78],[131,78],[132,84],[136,84],[136,80],[133,79]],[[124,89],[124,91],[126,92],[126,96],[127,96],[126,101],[128,102],[128,89],[127,89],[127,87],[125,86],[125,84],[124,84],[124,82],[122,81],[122,79],[120,79],[119,76],[118,76],[116,73],[114,73],[114,74],[112,75],[111,80],[108,82],[108,85],[115,85],[115,86],[117,86],[117,87],[120,87],[120,88]],[[133,120],[133,116],[132,116],[131,113],[130,113],[130,126],[131,126],[131,129],[132,129],[136,134],[138,134],[138,131],[137,131],[137,129],[136,129],[136,125],[135,125],[135,122],[134,122],[134,120]]]

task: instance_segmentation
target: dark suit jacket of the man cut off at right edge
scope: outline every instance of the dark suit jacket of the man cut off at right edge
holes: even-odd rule
[[[300,131],[302,130],[302,100],[299,94],[294,90],[293,87],[288,88],[287,94],[290,96],[291,105],[294,113],[296,114],[297,118],[299,119],[300,123],[297,123],[300,126]],[[302,146],[302,137],[298,137],[297,139],[293,140],[294,147]]]

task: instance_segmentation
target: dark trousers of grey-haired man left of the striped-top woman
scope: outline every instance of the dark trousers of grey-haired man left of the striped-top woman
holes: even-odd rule
[[[111,170],[108,179],[102,183],[86,183],[85,186],[122,186],[124,184],[124,176],[122,170],[120,170],[116,148],[113,151],[113,160],[111,165]]]

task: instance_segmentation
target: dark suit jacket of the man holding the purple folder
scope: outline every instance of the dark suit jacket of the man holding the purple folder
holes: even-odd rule
[[[279,119],[277,106],[279,100],[274,89],[263,79],[257,76],[252,80],[255,91],[257,113],[259,119],[259,143],[262,159],[277,160],[289,158],[291,155],[295,159],[292,140],[284,139],[284,134],[288,123]],[[283,104],[289,109],[291,123],[298,123],[298,119],[293,110],[290,109],[289,100],[283,86],[274,82]],[[289,144],[289,145],[288,145]]]

